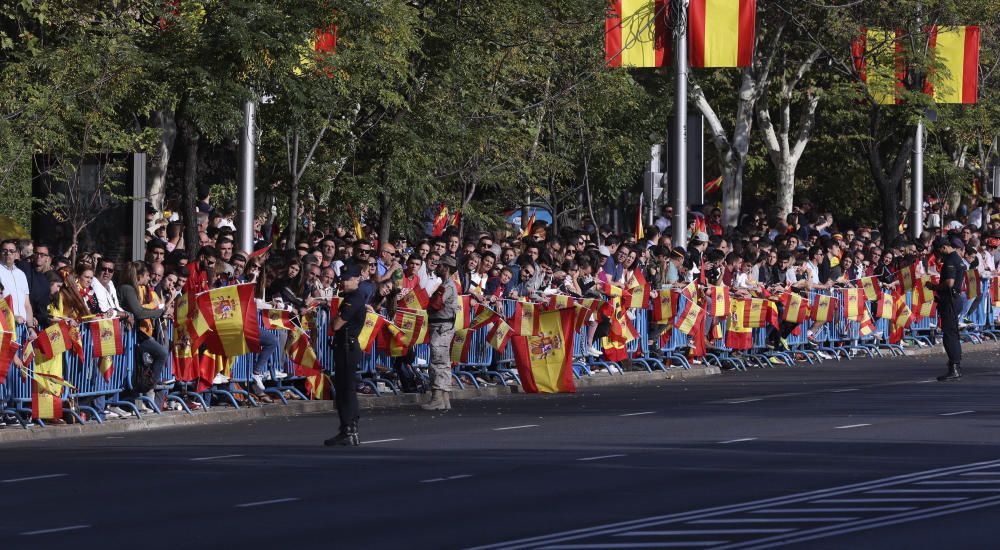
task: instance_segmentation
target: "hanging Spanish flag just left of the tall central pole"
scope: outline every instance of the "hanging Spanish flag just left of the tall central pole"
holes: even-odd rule
[[[669,57],[667,0],[611,0],[604,21],[610,67],[662,67]]]

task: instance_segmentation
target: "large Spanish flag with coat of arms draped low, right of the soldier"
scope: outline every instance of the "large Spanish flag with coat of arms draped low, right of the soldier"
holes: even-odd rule
[[[512,337],[514,362],[521,385],[528,393],[575,392],[573,384],[572,309],[546,311],[539,315],[538,332]]]

